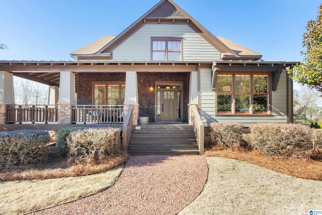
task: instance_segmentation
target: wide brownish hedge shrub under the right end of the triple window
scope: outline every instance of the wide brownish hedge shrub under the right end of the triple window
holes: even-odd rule
[[[254,149],[267,155],[304,157],[313,148],[313,130],[306,125],[260,123],[250,128]]]

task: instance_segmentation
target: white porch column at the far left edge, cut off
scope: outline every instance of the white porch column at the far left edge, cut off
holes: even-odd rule
[[[15,104],[13,77],[8,71],[0,71],[0,124],[6,123],[7,104]]]

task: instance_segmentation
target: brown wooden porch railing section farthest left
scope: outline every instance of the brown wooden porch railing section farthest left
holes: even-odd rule
[[[57,122],[57,105],[7,105],[6,123]]]

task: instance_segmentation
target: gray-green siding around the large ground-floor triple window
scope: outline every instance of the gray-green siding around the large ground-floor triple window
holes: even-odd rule
[[[276,91],[272,91],[272,116],[250,116],[240,115],[216,115],[215,116],[215,93],[211,92],[209,80],[211,80],[211,72],[200,70],[200,106],[201,119],[205,126],[209,126],[211,122],[239,122],[244,126],[251,123],[286,123],[287,117],[287,91],[286,91],[286,70],[281,74]],[[208,87],[209,86],[209,87]]]

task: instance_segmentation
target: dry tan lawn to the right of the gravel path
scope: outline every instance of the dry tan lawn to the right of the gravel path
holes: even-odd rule
[[[309,210],[322,210],[322,181],[233,159],[206,160],[209,173],[204,190],[179,214],[309,214]]]

